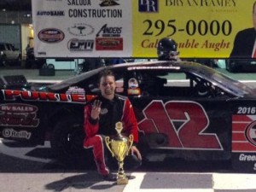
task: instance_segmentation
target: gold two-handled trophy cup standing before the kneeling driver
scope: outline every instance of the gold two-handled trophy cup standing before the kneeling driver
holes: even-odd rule
[[[121,131],[123,130],[123,125],[121,122],[117,122],[115,124],[115,130],[118,132],[118,134],[115,137],[111,137],[111,139],[110,137],[105,137],[105,142],[109,151],[119,163],[117,184],[127,184],[128,178],[126,177],[124,170],[124,160],[125,156],[128,155],[131,149],[133,135],[130,135],[129,138],[121,135]]]

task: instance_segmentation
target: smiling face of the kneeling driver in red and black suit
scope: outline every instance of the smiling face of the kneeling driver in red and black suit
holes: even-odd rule
[[[115,88],[116,84],[113,76],[101,78],[100,90],[103,97],[105,97],[106,99],[113,99]]]

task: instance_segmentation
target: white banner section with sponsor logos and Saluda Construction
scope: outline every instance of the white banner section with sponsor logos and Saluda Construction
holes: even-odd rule
[[[131,1],[32,0],[37,57],[130,57]]]

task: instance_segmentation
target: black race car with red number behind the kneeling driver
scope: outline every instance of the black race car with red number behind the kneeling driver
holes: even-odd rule
[[[91,160],[83,148],[84,106],[98,94],[100,67],[38,89],[3,89],[0,137],[44,144],[56,158]],[[189,61],[144,61],[108,66],[116,93],[136,113],[138,148],[184,160],[226,160],[234,170],[256,170],[256,91]],[[172,79],[179,79],[172,80]],[[82,155],[82,156],[81,156]]]

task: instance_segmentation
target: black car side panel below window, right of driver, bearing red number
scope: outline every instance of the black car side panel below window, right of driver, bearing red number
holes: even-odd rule
[[[231,154],[256,153],[254,101],[149,97],[131,101],[144,135],[166,135],[163,143],[149,139],[151,148],[194,160],[230,160]]]

